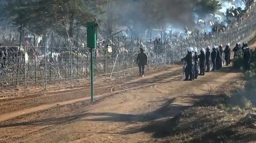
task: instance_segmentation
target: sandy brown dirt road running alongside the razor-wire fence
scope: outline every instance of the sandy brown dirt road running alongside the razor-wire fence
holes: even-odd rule
[[[1,103],[0,142],[161,142],[172,123],[158,122],[170,121],[203,95],[227,92],[242,75],[225,67],[185,82],[181,73],[181,67],[170,68],[108,85],[98,89],[93,104],[85,89]],[[42,104],[46,98],[52,101]]]

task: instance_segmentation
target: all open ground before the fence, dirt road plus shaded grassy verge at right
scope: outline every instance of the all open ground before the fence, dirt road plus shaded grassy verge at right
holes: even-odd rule
[[[182,67],[146,77],[96,83],[0,102],[0,142],[253,142],[256,129],[240,121],[254,108],[223,106],[243,89],[243,73],[225,66],[195,81]]]

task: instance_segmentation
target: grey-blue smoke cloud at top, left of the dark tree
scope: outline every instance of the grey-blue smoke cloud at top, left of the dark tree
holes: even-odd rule
[[[193,22],[193,3],[185,0],[141,0],[115,1],[112,11],[116,24],[131,29],[131,34],[141,36],[141,33],[151,29],[190,29]]]

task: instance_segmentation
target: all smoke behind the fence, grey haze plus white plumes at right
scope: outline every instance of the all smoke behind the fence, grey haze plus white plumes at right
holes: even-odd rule
[[[126,33],[145,36],[145,31],[152,29],[182,32],[187,27],[190,31],[202,29],[212,31],[216,23],[227,25],[225,13],[232,7],[246,8],[243,0],[221,0],[222,9],[215,13],[196,12],[195,3],[190,0],[123,0],[111,4],[111,12],[116,25],[127,27]]]

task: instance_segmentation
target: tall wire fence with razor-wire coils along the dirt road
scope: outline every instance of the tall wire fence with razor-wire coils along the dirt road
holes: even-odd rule
[[[186,47],[205,48],[207,45],[248,41],[256,30],[256,11],[254,3],[252,5],[251,15],[247,15],[246,20],[237,21],[217,33],[197,30],[190,35],[163,35],[161,32],[161,37],[150,38],[100,35],[95,50],[95,76],[106,81],[137,75],[139,48],[145,49],[148,55],[148,67],[159,68],[178,63],[187,54]],[[90,53],[86,41],[79,35],[73,39],[54,33],[37,37],[22,27],[16,29],[21,30],[0,33],[3,43],[0,48],[0,90],[3,95],[54,89],[52,85],[58,89],[80,87],[90,82]],[[25,35],[30,38],[26,39]]]

